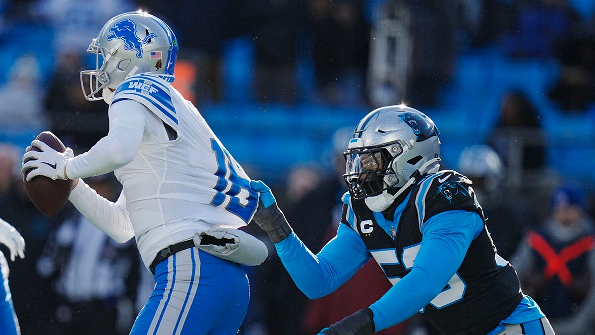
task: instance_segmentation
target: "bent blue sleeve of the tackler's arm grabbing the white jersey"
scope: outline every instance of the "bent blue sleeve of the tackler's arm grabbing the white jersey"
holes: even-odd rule
[[[317,255],[293,232],[275,244],[275,249],[297,287],[310,299],[336,290],[371,258],[358,233],[344,224]]]

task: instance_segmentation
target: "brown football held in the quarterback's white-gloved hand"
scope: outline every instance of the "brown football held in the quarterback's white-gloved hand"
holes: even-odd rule
[[[42,132],[37,135],[36,139],[61,153],[66,150],[62,141],[52,132]],[[40,151],[37,147],[31,147],[30,150]],[[27,170],[23,173],[27,195],[40,212],[46,216],[56,215],[68,201],[68,196],[70,196],[70,191],[73,188],[73,181],[70,179],[52,180],[46,176],[35,176],[31,181],[27,181],[29,172],[30,170]]]

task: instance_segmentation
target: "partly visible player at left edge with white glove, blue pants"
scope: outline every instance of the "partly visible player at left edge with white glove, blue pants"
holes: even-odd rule
[[[4,244],[10,250],[10,259],[14,262],[16,256],[25,258],[25,240],[8,222],[0,218],[0,245]],[[0,272],[2,275],[2,289],[0,289],[0,333],[4,335],[20,335],[17,314],[12,305],[12,296],[8,287],[8,262],[4,253],[0,251]]]

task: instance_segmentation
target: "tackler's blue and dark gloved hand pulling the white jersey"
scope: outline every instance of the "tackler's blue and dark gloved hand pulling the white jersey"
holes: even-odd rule
[[[258,210],[253,220],[267,232],[273,243],[283,241],[292,232],[292,227],[277,206],[271,189],[262,181],[250,181],[250,187],[259,193]]]

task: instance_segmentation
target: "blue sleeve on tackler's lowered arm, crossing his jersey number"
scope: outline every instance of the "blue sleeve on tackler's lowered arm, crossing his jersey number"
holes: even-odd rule
[[[475,212],[452,210],[428,219],[411,272],[370,306],[376,331],[399,324],[428,305],[455,275],[471,241],[483,229]]]

